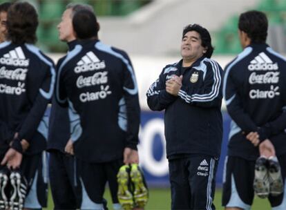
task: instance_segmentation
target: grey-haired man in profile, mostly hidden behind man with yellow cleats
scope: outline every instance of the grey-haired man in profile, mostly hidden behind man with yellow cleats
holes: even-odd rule
[[[78,3],[69,3],[66,6],[61,22],[57,26],[59,39],[68,44],[68,50],[73,50],[77,44],[73,32],[72,19],[75,12],[90,10],[91,6]],[[57,69],[64,59],[59,59]],[[52,190],[55,209],[78,209],[81,191],[77,183],[76,161],[73,155],[65,152],[65,146],[70,137],[70,121],[68,108],[63,108],[53,98],[50,112],[48,151],[50,152],[50,188]]]

